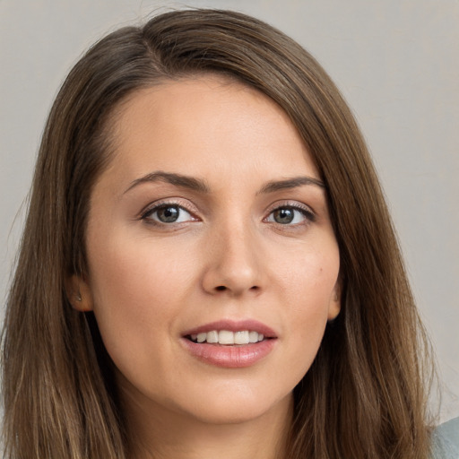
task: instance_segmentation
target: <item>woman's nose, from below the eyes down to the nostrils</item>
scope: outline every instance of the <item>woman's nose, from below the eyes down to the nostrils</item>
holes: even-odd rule
[[[259,236],[258,236],[259,237]],[[208,263],[203,288],[211,294],[239,297],[264,288],[263,250],[250,225],[228,224],[206,241]]]

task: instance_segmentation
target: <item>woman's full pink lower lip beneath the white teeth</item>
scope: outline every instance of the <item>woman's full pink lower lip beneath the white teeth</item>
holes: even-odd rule
[[[225,346],[192,342],[182,338],[186,349],[197,359],[223,368],[247,368],[255,365],[273,351],[275,341],[275,339],[268,339],[250,344]]]

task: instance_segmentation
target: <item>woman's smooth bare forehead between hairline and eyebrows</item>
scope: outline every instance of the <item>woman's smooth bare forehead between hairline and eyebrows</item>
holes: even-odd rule
[[[195,176],[232,169],[240,177],[245,167],[266,166],[318,178],[287,114],[260,91],[221,76],[136,91],[112,119],[112,166],[133,178],[149,169]]]

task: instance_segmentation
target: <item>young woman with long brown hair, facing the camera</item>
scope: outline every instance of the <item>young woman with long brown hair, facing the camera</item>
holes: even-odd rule
[[[8,299],[5,457],[429,457],[428,382],[377,176],[305,50],[193,10],[82,57]]]

